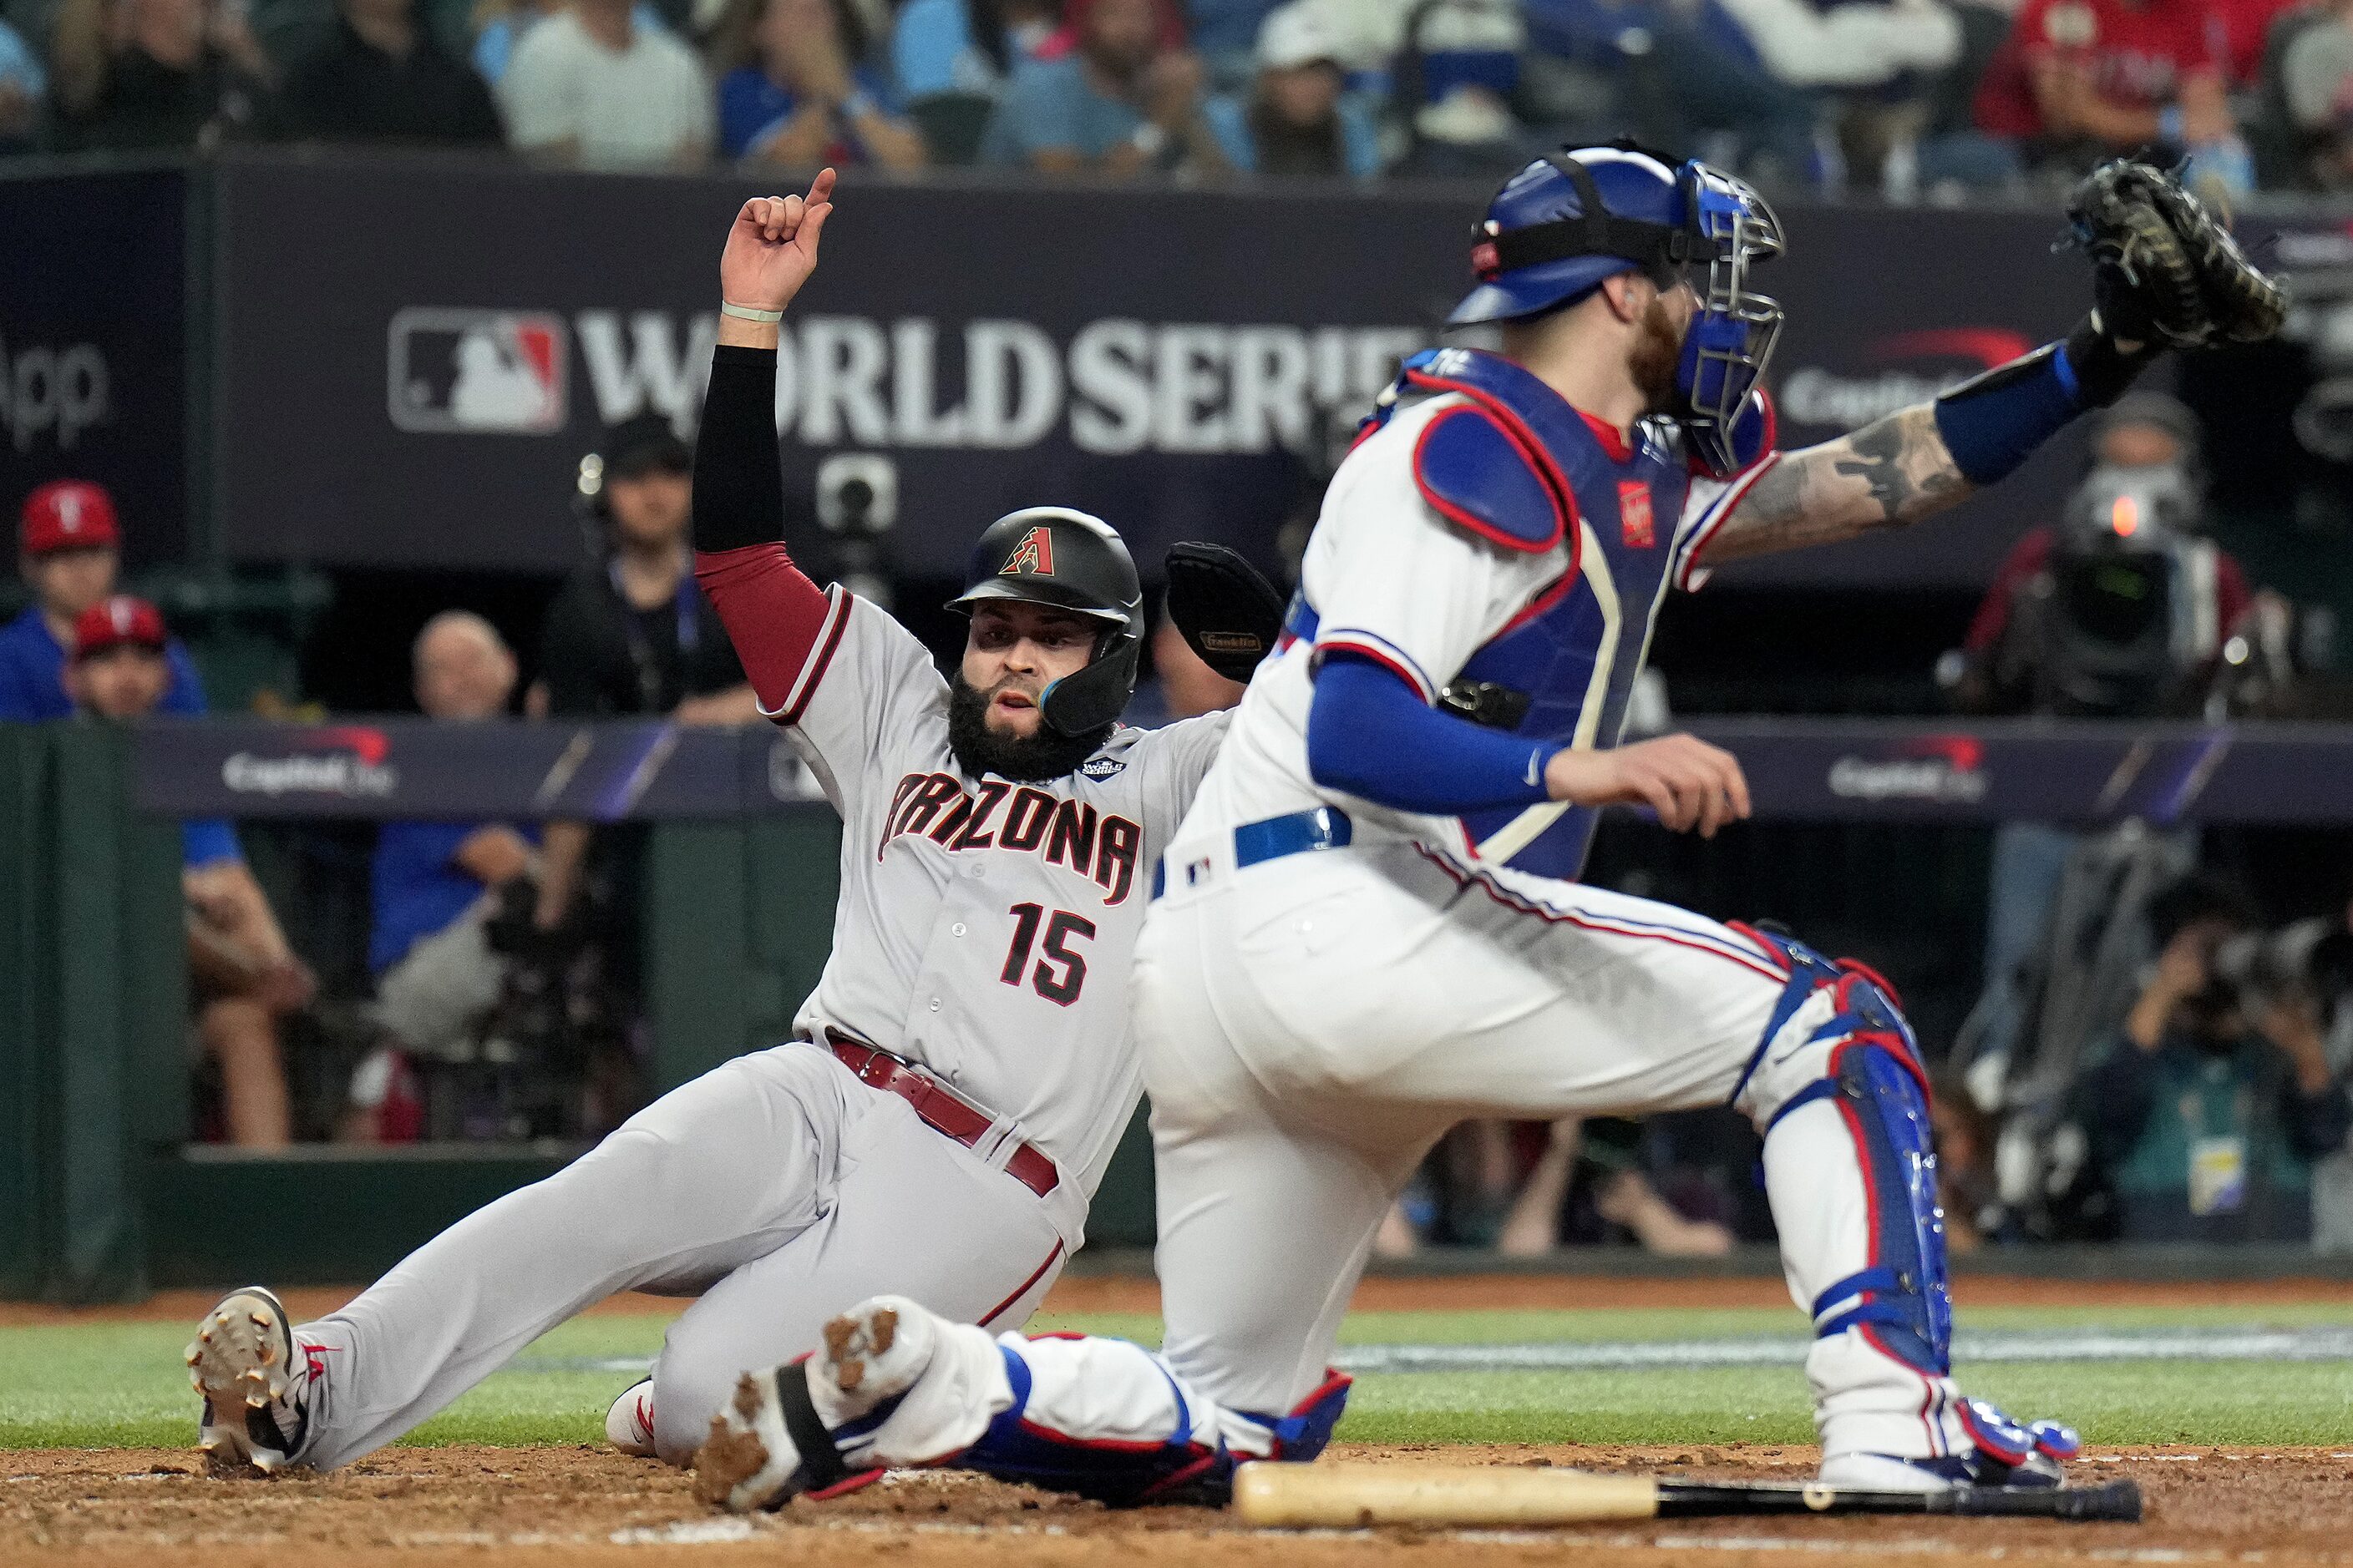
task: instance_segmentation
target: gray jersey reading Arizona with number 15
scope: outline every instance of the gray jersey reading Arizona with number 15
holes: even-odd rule
[[[833,957],[795,1025],[922,1063],[1092,1194],[1139,1095],[1127,971],[1153,858],[1228,715],[1120,729],[1047,783],[972,778],[929,651],[875,604],[828,599],[765,708],[842,813]]]

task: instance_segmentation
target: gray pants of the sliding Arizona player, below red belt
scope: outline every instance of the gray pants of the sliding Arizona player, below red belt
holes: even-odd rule
[[[299,1326],[322,1368],[299,1458],[348,1465],[584,1307],[661,1291],[701,1295],[654,1366],[654,1441],[685,1462],[746,1368],[864,1295],[1019,1328],[1085,1215],[1068,1187],[1040,1199],[824,1048],[736,1058]]]

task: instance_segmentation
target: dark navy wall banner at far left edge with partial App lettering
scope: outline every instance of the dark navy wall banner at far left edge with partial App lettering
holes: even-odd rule
[[[132,564],[188,552],[186,174],[0,176],[0,527],[104,484]]]

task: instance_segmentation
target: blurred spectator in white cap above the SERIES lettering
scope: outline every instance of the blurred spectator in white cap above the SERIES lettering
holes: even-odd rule
[[[1249,94],[1214,96],[1205,113],[1226,162],[1242,174],[1372,179],[1381,172],[1379,127],[1346,92],[1339,40],[1313,0],[1266,14]]]

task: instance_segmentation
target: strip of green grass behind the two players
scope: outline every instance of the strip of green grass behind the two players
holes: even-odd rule
[[[591,1316],[546,1335],[412,1443],[591,1443],[628,1382],[621,1371],[551,1371],[548,1361],[652,1356],[666,1316]],[[2073,1307],[1962,1312],[1962,1328],[2186,1328],[2353,1324],[2348,1302],[2266,1307]],[[1054,1314],[1082,1328],[1158,1342],[1148,1314]],[[1351,1345],[1508,1345],[1539,1340],[1798,1338],[1793,1312],[1365,1312]],[[186,1446],[195,1399],[179,1324],[0,1328],[0,1448]],[[539,1363],[539,1366],[534,1366]],[[2061,1415],[2094,1443],[2353,1446],[2353,1361],[2125,1361],[1962,1368],[1969,1392],[2028,1415]],[[1795,1368],[1546,1373],[1388,1373],[1358,1380],[1341,1436],[1367,1443],[1722,1443],[1809,1441]]]

